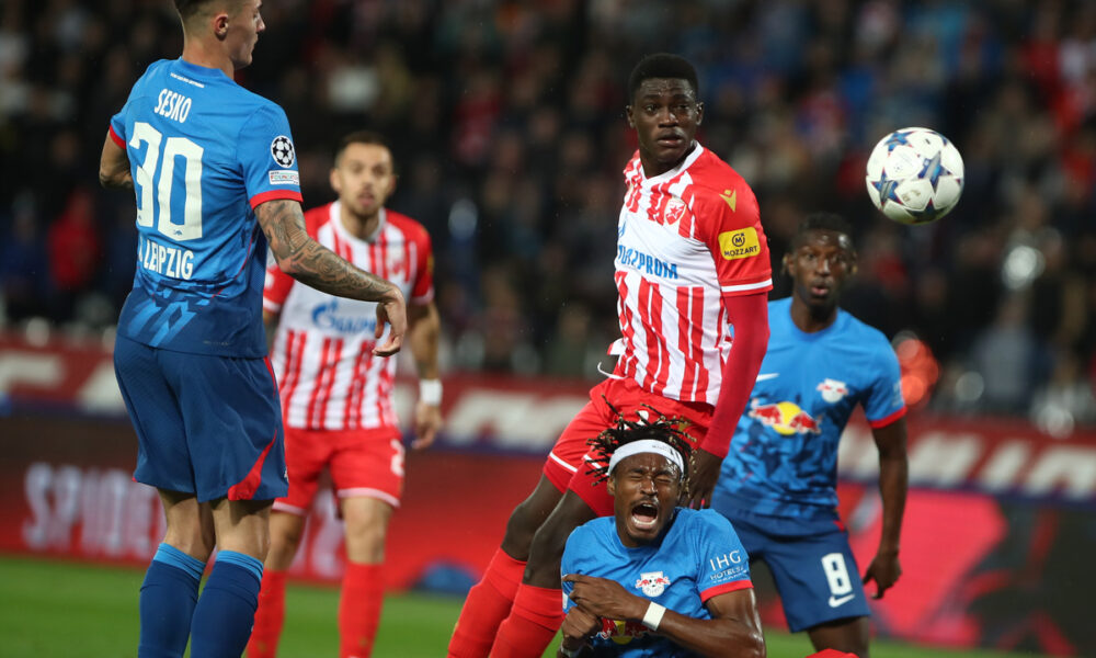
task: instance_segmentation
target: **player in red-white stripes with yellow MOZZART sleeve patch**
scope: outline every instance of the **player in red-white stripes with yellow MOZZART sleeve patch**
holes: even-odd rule
[[[706,504],[765,354],[768,245],[750,186],[695,139],[704,117],[696,71],[675,55],[652,55],[632,70],[628,90],[639,150],[624,171],[618,222],[619,360],[511,515],[465,601],[450,656],[539,656],[551,640],[563,619],[567,536],[613,512],[589,473],[596,458],[586,441],[613,426],[614,408],[629,420],[648,407],[684,419],[696,446],[687,502]]]

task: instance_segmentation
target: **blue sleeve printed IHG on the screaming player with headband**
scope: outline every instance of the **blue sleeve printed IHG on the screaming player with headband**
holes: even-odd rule
[[[731,522],[711,510],[697,514],[697,558],[700,569],[696,587],[701,601],[753,587],[750,557]]]

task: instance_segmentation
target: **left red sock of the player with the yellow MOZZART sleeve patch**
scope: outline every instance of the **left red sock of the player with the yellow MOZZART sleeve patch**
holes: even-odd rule
[[[465,599],[449,640],[449,658],[487,658],[499,624],[510,614],[524,574],[524,561],[510,557],[502,548],[494,552],[483,578]],[[560,601],[562,598],[557,598],[557,603]]]

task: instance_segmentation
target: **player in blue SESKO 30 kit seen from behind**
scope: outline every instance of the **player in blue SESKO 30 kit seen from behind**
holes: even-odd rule
[[[139,599],[140,658],[238,658],[251,631],[273,499],[286,492],[260,294],[266,248],[330,294],[379,302],[396,353],[398,287],[305,231],[285,112],[237,84],[265,30],[260,0],[175,0],[178,59],[152,63],[111,118],[99,178],[133,190],[138,263],[114,365],[137,433],[134,479],[167,532]],[[217,558],[201,589],[206,561]]]

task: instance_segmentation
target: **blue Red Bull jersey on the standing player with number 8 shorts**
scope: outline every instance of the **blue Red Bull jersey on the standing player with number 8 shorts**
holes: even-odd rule
[[[713,498],[758,514],[835,518],[837,443],[857,405],[872,427],[905,412],[887,337],[840,310],[806,333],[791,298],[768,305],[768,351]]]

